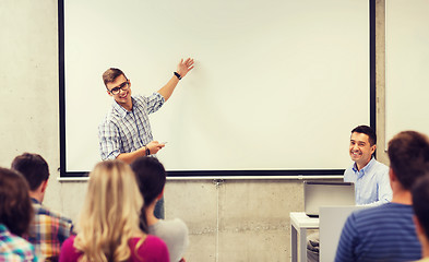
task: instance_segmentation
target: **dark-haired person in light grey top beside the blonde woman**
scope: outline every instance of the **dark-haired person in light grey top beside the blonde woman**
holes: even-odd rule
[[[131,164],[131,168],[144,199],[140,227],[166,242],[171,262],[181,261],[189,243],[187,225],[179,218],[164,221],[154,215],[155,204],[163,196],[166,182],[163,164],[155,157],[140,157]]]

